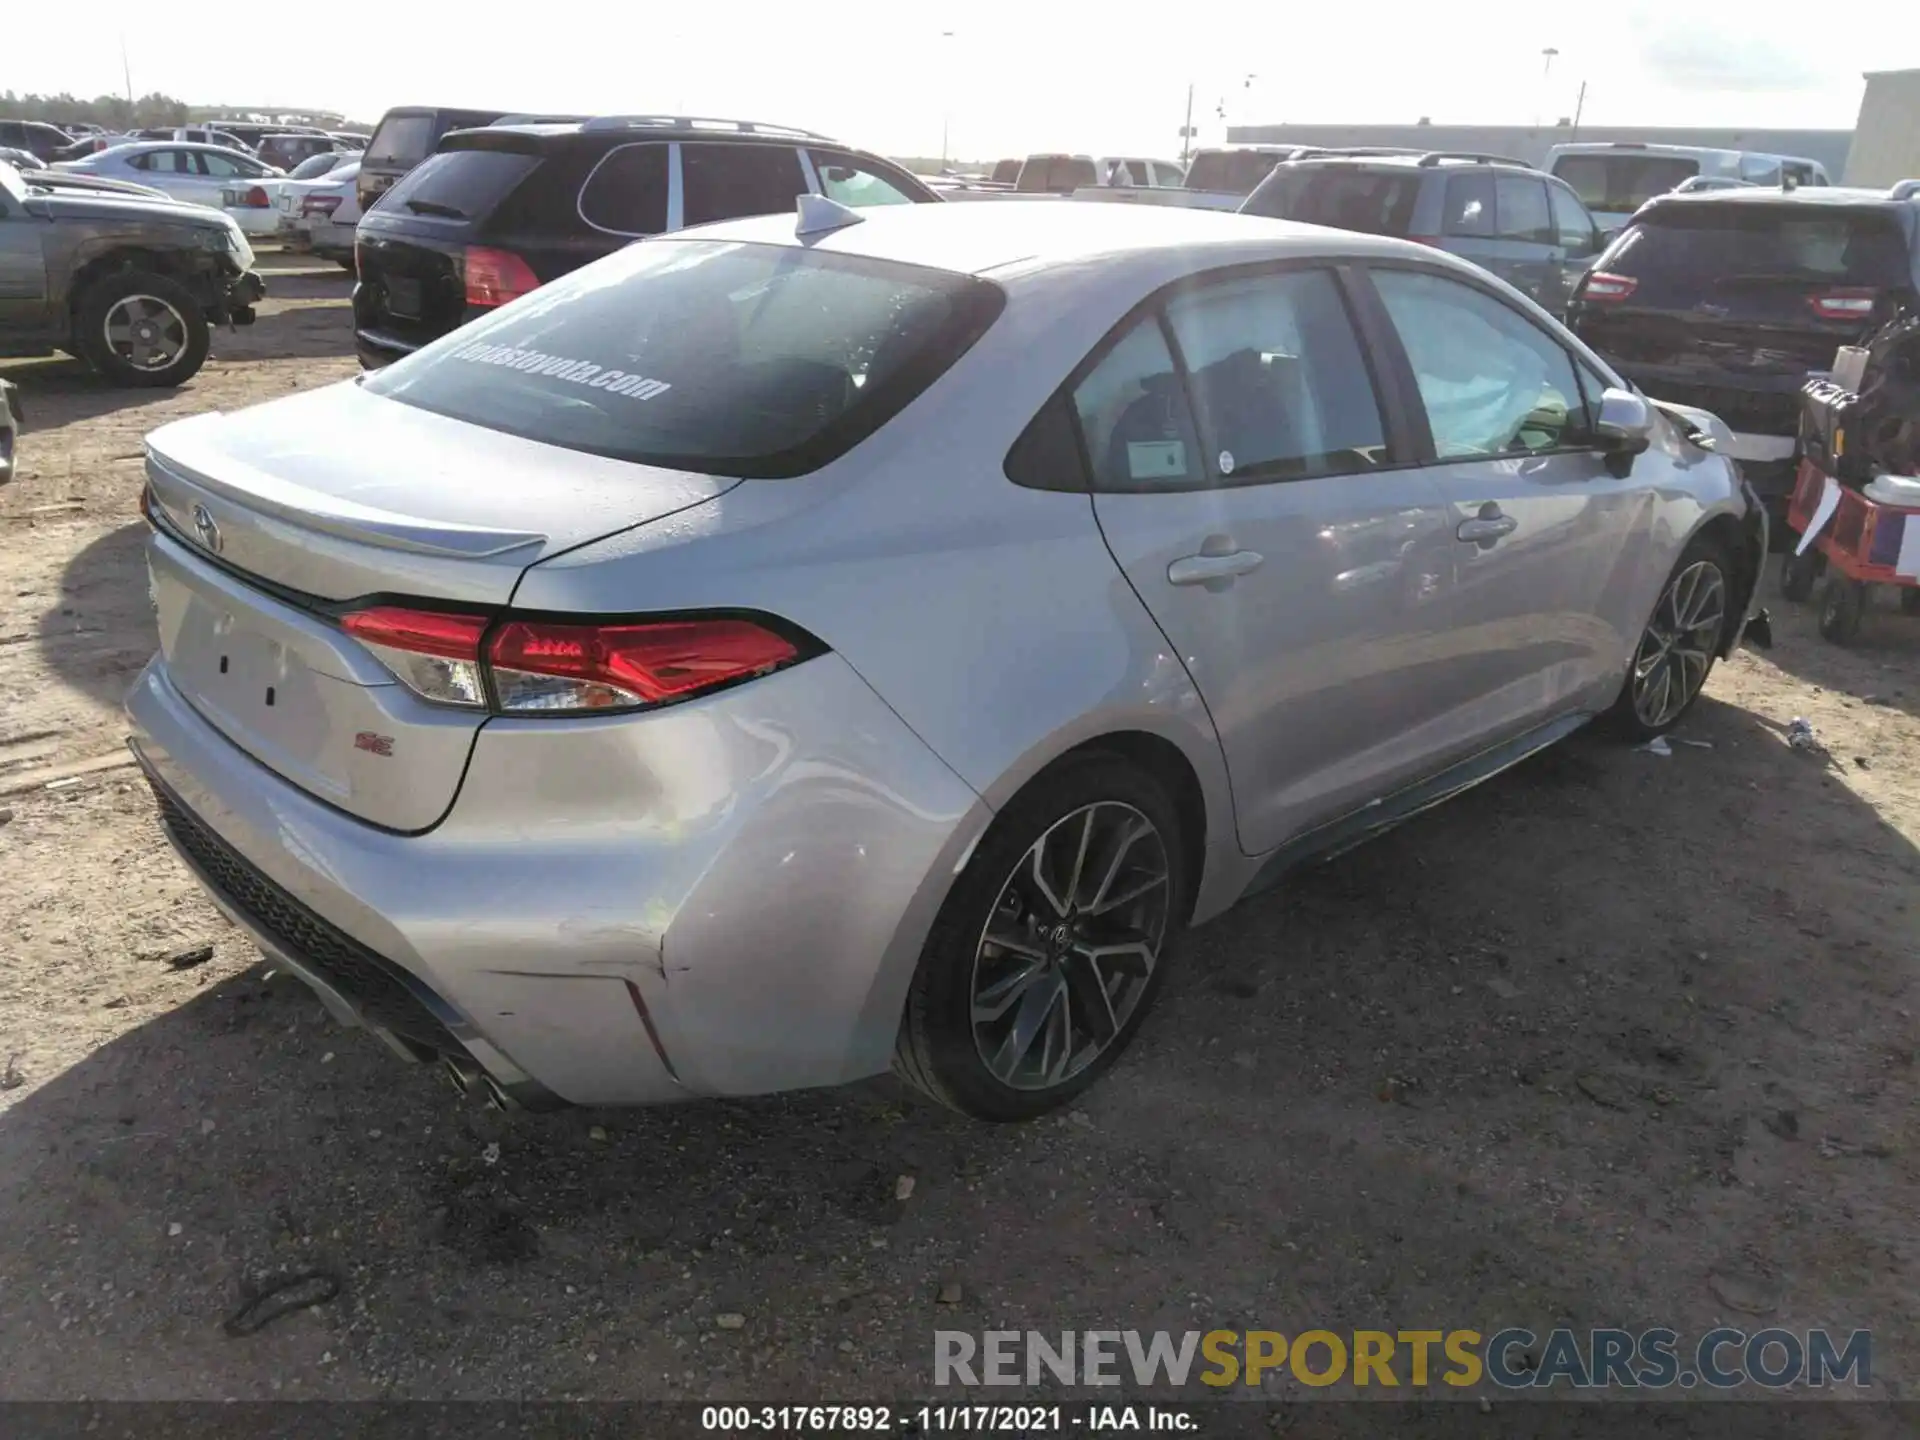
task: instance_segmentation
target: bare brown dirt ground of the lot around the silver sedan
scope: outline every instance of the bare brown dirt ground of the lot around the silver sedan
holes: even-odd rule
[[[899,1400],[937,1327],[1716,1321],[1870,1327],[1920,1394],[1920,622],[1774,601],[1670,756],[1576,737],[1192,933],[1064,1117],[501,1116],[269,979],[123,764],[142,434],[355,369],[346,278],[269,282],[175,394],[6,367],[0,1396]],[[301,1267],[340,1296],[223,1334]]]

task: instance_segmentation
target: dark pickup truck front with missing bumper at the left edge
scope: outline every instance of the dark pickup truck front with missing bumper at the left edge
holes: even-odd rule
[[[252,324],[267,286],[230,219],[73,194],[0,165],[0,355],[65,351],[117,386],[177,386],[211,326]]]

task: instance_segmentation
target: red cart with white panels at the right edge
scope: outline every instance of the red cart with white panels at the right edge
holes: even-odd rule
[[[1788,526],[1795,536],[1807,534],[1812,524],[1826,484],[1828,476],[1818,465],[1801,461],[1788,505]],[[1839,509],[1805,555],[1786,557],[1780,593],[1791,601],[1807,599],[1824,570],[1820,634],[1836,645],[1851,645],[1866,612],[1868,586],[1899,586],[1901,612],[1920,614],[1920,580],[1893,570],[1907,526],[1920,526],[1920,507],[1882,505],[1837,480],[1834,484],[1839,486]]]

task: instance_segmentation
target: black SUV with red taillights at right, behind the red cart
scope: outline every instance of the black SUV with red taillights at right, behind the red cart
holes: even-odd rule
[[[1811,372],[1920,296],[1920,186],[1657,196],[1574,290],[1569,323],[1655,399],[1713,411],[1776,516]]]

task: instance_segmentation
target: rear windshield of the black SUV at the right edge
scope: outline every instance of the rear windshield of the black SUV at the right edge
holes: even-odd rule
[[[1620,236],[1603,269],[1636,280],[1697,284],[1811,282],[1910,286],[1907,242],[1891,215],[1805,205],[1661,205]]]

